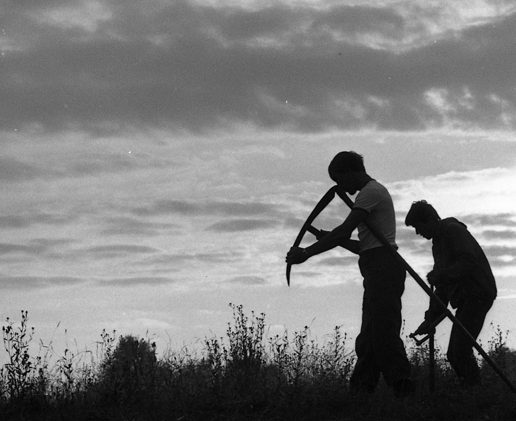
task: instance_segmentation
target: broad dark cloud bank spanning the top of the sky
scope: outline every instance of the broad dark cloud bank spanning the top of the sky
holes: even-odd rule
[[[121,5],[6,6],[2,126],[323,131],[516,122],[509,6],[485,3],[482,15],[423,2],[409,11]]]

